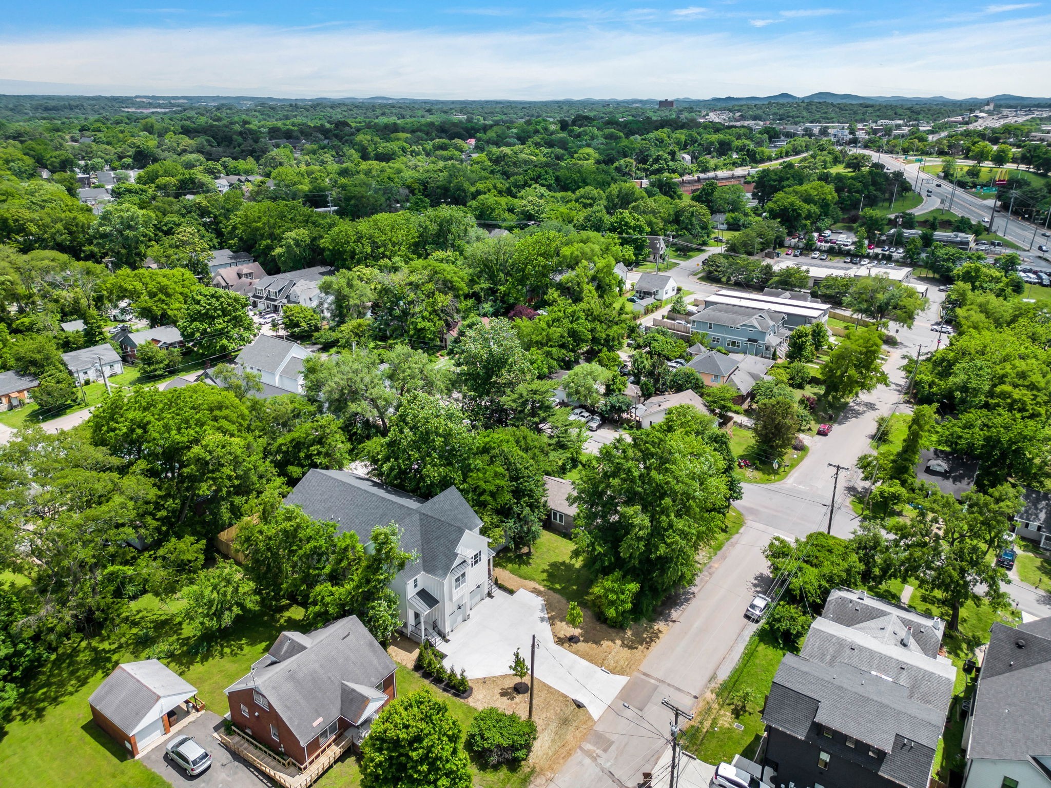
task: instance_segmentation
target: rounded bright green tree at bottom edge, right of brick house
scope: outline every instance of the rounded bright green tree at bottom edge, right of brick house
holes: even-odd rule
[[[362,742],[362,788],[471,788],[462,735],[430,690],[394,699]]]

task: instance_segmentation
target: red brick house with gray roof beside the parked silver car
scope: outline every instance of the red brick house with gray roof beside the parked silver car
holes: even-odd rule
[[[229,687],[230,721],[301,767],[341,735],[354,746],[397,697],[394,661],[356,616],[312,633],[285,631]]]

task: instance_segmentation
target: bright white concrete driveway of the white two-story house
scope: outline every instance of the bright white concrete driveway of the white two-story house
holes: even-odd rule
[[[515,649],[529,662],[536,635],[536,678],[580,701],[598,720],[627,683],[626,676],[607,673],[555,644],[548,609],[540,597],[519,588],[513,595],[497,590],[471,611],[441,646],[446,667],[467,671],[469,679],[507,676]]]

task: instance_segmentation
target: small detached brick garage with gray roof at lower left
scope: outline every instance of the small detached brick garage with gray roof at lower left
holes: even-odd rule
[[[171,730],[178,707],[184,703],[203,706],[197,689],[158,660],[118,665],[87,703],[95,724],[121,742],[132,758]]]

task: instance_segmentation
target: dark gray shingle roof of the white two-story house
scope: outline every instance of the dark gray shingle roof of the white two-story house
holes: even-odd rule
[[[335,522],[341,531],[353,531],[363,544],[375,526],[396,522],[403,532],[401,549],[415,552],[423,571],[439,578],[455,563],[463,532],[481,527],[481,519],[456,488],[425,501],[345,471],[311,469],[285,502],[314,519]]]

